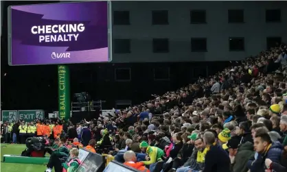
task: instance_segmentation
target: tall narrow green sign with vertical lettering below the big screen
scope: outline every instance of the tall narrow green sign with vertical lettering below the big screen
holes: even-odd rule
[[[65,65],[58,65],[58,103],[60,119],[69,119],[71,110],[69,68]]]

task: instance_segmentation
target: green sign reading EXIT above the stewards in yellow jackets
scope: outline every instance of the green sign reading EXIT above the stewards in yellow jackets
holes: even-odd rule
[[[18,110],[18,119],[23,119],[26,122],[34,121],[35,119],[45,119],[44,110]]]

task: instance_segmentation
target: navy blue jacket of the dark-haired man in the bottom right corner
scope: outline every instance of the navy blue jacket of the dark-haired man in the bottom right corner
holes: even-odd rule
[[[247,162],[247,167],[251,172],[265,172],[265,159],[269,158],[272,162],[280,162],[280,157],[283,152],[283,145],[279,142],[272,143],[270,149],[267,151],[266,156],[264,153],[258,153],[256,160],[251,159]]]

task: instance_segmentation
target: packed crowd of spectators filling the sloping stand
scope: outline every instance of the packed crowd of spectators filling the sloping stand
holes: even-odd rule
[[[139,106],[68,123],[64,135],[84,147],[93,139],[97,153],[139,171],[286,172],[286,54],[282,44],[231,62]]]

